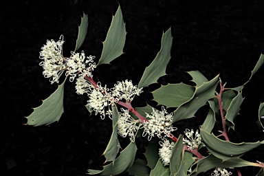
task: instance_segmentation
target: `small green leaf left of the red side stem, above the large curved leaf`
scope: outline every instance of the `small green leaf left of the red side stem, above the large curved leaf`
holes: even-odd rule
[[[210,133],[212,129],[214,128],[215,113],[214,113],[214,101],[209,100],[208,102],[210,104],[210,109],[206,116],[206,120],[204,120],[203,124],[201,125],[201,129]]]

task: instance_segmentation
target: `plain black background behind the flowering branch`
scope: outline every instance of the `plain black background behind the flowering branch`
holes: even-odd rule
[[[0,175],[85,175],[87,168],[100,169],[100,156],[111,135],[111,120],[89,117],[83,104],[87,97],[75,94],[74,85],[65,84],[65,113],[50,126],[25,126],[23,116],[32,113],[57,85],[43,78],[39,52],[47,39],[64,35],[63,54],[74,50],[77,25],[83,12],[89,15],[89,29],[83,47],[87,55],[100,58],[102,43],[120,3],[126,22],[126,45],[120,58],[94,72],[102,85],[131,79],[137,84],[144,68],[160,49],[162,32],[172,28],[173,47],[167,76],[159,83],[190,83],[186,71],[199,70],[208,79],[221,74],[227,87],[243,85],[264,51],[264,1],[4,1],[0,10]],[[233,142],[264,140],[258,129],[259,104],[264,101],[261,68],[245,89],[241,115]],[[137,107],[149,104],[158,85],[144,89]],[[206,117],[186,120],[185,126],[201,125]],[[182,123],[175,124],[182,133]],[[221,129],[219,129],[221,130]],[[123,145],[125,146],[125,145]],[[263,146],[243,158],[263,160]],[[9,164],[8,164],[9,163]],[[10,163],[14,163],[12,168]],[[243,175],[256,175],[258,168],[242,168]],[[235,175],[235,174],[234,174]]]

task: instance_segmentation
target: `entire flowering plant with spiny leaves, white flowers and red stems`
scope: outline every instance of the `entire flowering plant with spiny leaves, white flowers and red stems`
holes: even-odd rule
[[[243,102],[242,86],[226,88],[219,75],[208,80],[198,71],[188,72],[192,76],[195,87],[184,83],[168,84],[153,91],[154,100],[162,104],[158,110],[146,107],[132,107],[135,96],[140,96],[144,87],[157,83],[157,79],[165,75],[166,66],[170,61],[170,48],[173,42],[170,29],[162,36],[161,49],[154,61],[146,67],[140,83],[134,85],[131,80],[118,81],[112,88],[102,85],[93,79],[93,71],[102,64],[108,64],[123,53],[126,39],[126,29],[122,12],[118,8],[113,16],[107,37],[103,42],[102,54],[96,64],[95,56],[87,56],[85,52],[77,52],[85,40],[88,27],[86,14],[81,19],[76,48],[69,52],[69,57],[63,56],[63,35],[58,41],[47,41],[41,47],[40,65],[43,76],[50,83],[59,83],[65,74],[65,80],[54,93],[43,101],[40,107],[34,109],[28,116],[28,124],[34,126],[48,125],[61,118],[63,113],[63,89],[65,81],[76,84],[76,93],[87,96],[87,110],[100,115],[102,120],[109,117],[112,120],[113,132],[103,155],[106,162],[102,170],[91,170],[90,175],[199,175],[211,170],[211,175],[242,175],[239,168],[243,166],[258,166],[261,168],[256,175],[263,175],[262,162],[248,162],[241,156],[260,146],[264,142],[233,143],[228,138],[228,130],[234,129],[234,118],[239,113]],[[261,54],[252,76],[263,65],[264,56]],[[219,91],[217,86],[219,85]],[[179,131],[177,121],[195,116],[198,109],[208,104],[208,115],[197,130],[186,129]],[[174,108],[167,112],[166,108]],[[264,104],[259,107],[259,126],[264,129],[261,118],[264,117]],[[221,120],[222,129],[214,135],[212,129],[216,120]],[[118,135],[129,137],[131,143],[123,150],[120,148]],[[144,158],[136,158],[138,137],[148,140]],[[221,137],[221,138],[219,138]],[[155,139],[153,139],[155,138]],[[223,140],[224,139],[224,140]],[[203,151],[201,152],[201,148]],[[118,155],[118,153],[120,154]],[[202,154],[203,153],[203,154]],[[228,170],[232,170],[228,171]]]

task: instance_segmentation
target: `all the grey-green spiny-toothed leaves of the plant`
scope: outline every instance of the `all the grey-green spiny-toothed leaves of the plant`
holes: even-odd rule
[[[74,52],[80,48],[85,41],[87,35],[88,17],[83,15],[78,30],[78,39],[76,40],[76,47]],[[125,23],[122,17],[121,8],[113,16],[110,28],[107,32],[105,41],[103,42],[103,49],[101,58],[98,61],[98,65],[107,64],[113,61],[115,58],[123,53],[124,44],[126,40]],[[153,83],[157,83],[157,80],[166,75],[166,66],[170,61],[170,50],[173,43],[173,37],[171,35],[171,29],[168,29],[162,35],[161,48],[157,53],[157,56],[153,62],[146,67],[139,87],[147,87]],[[243,85],[235,88],[225,88],[221,96],[221,106],[223,106],[223,118],[225,119],[228,128],[234,129],[234,119],[239,114],[241,104],[243,102],[242,89],[250,81],[252,76],[260,69],[264,63],[264,56],[261,54],[258,63],[252,70],[252,74],[249,80]],[[118,120],[120,113],[117,104],[112,104],[112,135],[109,143],[103,153],[106,158],[106,165],[102,167],[102,170],[89,169],[90,175],[119,175],[124,172],[128,172],[129,175],[166,175],[166,176],[184,176],[188,175],[187,170],[192,166],[192,173],[190,175],[195,176],[199,173],[206,172],[215,167],[243,167],[243,166],[260,166],[259,164],[245,161],[241,159],[241,156],[251,151],[252,149],[260,146],[264,143],[261,142],[241,142],[234,143],[226,140],[221,140],[219,137],[212,133],[212,130],[216,127],[216,121],[221,120],[219,118],[219,102],[217,99],[217,85],[219,85],[219,75],[208,80],[206,76],[203,76],[201,72],[190,71],[188,72],[192,77],[192,82],[196,85],[190,86],[184,83],[162,85],[155,91],[153,91],[153,97],[158,104],[166,107],[172,107],[175,109],[173,115],[173,125],[177,125],[179,120],[186,120],[188,118],[195,117],[195,113],[201,109],[204,105],[208,104],[208,113],[200,126],[201,142],[205,144],[209,155],[195,160],[192,158],[191,151],[184,151],[183,135],[179,135],[175,146],[172,148],[170,157],[170,166],[164,166],[162,159],[159,158],[159,139],[153,139],[148,142],[146,146],[146,152],[144,158],[135,159],[137,152],[137,146],[135,142],[131,142],[126,148],[120,149],[120,143],[118,140]],[[67,78],[67,77],[66,77]],[[66,79],[65,79],[66,80]],[[48,125],[52,122],[56,122],[61,118],[63,113],[63,90],[65,81],[58,86],[58,89],[54,93],[43,100],[43,104],[40,107],[34,108],[34,111],[28,118],[28,124],[39,126]],[[93,109],[86,106],[87,110],[91,113]],[[146,117],[146,113],[151,114],[153,107],[146,105],[145,107],[137,107],[135,110],[142,116]],[[217,116],[218,115],[218,116]],[[133,118],[137,119],[135,115]],[[264,129],[261,122],[264,116],[264,103],[259,107],[259,126]],[[219,119],[217,119],[219,118]],[[142,129],[141,129],[142,130]],[[222,130],[222,129],[220,129]],[[137,136],[138,137],[138,136]],[[137,140],[137,137],[135,140]],[[153,137],[154,138],[154,137]],[[176,140],[175,140],[176,141]],[[201,146],[197,149],[199,150]],[[119,153],[119,151],[121,151]],[[119,154],[119,155],[118,155]],[[149,171],[151,170],[151,171]],[[263,175],[263,169],[259,171],[257,176]]]

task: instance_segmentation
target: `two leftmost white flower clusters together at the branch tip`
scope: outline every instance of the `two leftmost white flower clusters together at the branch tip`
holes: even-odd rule
[[[70,76],[70,81],[73,81],[77,75],[92,77],[91,71],[96,68],[95,56],[85,57],[84,52],[81,54],[72,52],[72,56],[66,58],[63,56],[63,43],[63,35],[61,35],[59,41],[47,40],[47,43],[41,47],[39,58],[44,61],[41,61],[39,65],[43,67],[44,77],[50,78],[51,84],[58,83],[58,79],[65,70],[67,70],[66,75]]]

